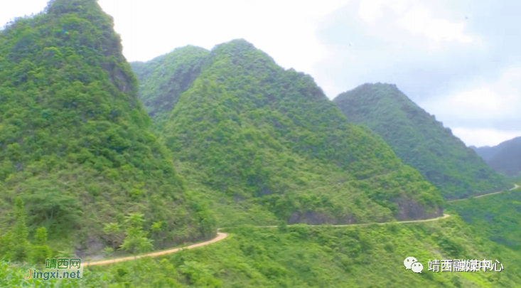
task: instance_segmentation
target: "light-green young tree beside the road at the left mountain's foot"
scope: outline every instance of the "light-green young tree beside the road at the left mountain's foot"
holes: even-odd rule
[[[152,250],[154,247],[152,240],[146,237],[147,233],[143,230],[144,221],[144,215],[141,213],[131,213],[125,218],[126,237],[120,249],[133,254]]]

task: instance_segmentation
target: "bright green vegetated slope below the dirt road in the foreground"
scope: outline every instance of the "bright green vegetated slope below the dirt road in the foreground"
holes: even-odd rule
[[[333,228],[243,226],[230,238],[156,259],[84,271],[71,287],[517,287],[520,257],[476,237],[462,220]],[[404,258],[424,265],[405,270]],[[429,260],[499,260],[502,272],[431,272]],[[13,286],[24,280],[13,268]],[[0,279],[6,279],[1,275]],[[44,286],[42,286],[44,287]]]

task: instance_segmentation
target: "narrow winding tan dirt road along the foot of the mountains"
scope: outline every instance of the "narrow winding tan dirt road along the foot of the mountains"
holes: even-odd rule
[[[510,191],[512,191],[512,190],[514,190],[516,188],[519,188],[519,186],[517,184],[515,184],[514,188],[510,189]],[[490,195],[503,193],[503,192],[505,192],[505,191],[499,191],[499,192],[494,192],[494,193],[483,194],[483,195],[480,195],[480,196],[476,196],[474,198],[490,196]],[[468,199],[468,198],[457,199],[457,200],[452,200],[452,201],[447,201],[447,202],[461,201],[461,200],[466,200],[466,199]],[[348,227],[348,226],[364,226],[364,225],[374,225],[374,224],[386,225],[386,224],[391,224],[391,223],[397,223],[397,224],[402,224],[402,223],[420,223],[420,222],[429,222],[429,221],[441,220],[441,219],[445,219],[445,218],[449,218],[449,217],[451,217],[451,215],[444,214],[443,216],[438,217],[438,218],[431,218],[431,219],[424,219],[424,220],[394,221],[394,222],[383,222],[383,223],[343,224],[343,225],[330,225],[330,226],[331,227]],[[288,226],[291,226],[291,225],[288,225]],[[274,226],[258,226],[258,227],[275,228],[275,227],[278,227],[278,226],[274,225]],[[102,260],[102,261],[96,261],[96,262],[87,262],[87,263],[85,263],[83,265],[83,267],[89,267],[89,266],[95,266],[95,265],[108,265],[108,264],[117,263],[117,262],[136,260],[136,259],[142,258],[142,257],[158,257],[158,256],[161,256],[161,255],[168,255],[168,254],[172,254],[172,253],[181,251],[183,249],[193,249],[193,248],[196,248],[196,247],[210,245],[212,243],[219,242],[220,240],[224,240],[227,237],[228,237],[227,233],[217,232],[217,237],[213,238],[212,240],[208,240],[206,242],[200,242],[200,243],[193,244],[193,245],[190,245],[190,246],[187,246],[187,247],[173,248],[173,249],[163,250],[163,251],[159,251],[159,252],[152,252],[152,253],[144,254],[144,255],[136,255],[136,256],[129,256],[129,257],[115,258],[115,259],[112,259],[112,260]]]

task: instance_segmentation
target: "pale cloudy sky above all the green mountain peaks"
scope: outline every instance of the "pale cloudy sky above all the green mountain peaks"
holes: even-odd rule
[[[0,22],[47,0],[9,1]],[[518,0],[99,0],[129,61],[245,38],[333,99],[394,83],[468,145],[521,136]]]

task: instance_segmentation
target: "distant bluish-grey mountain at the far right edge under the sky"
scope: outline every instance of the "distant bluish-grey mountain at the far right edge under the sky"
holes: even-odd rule
[[[507,176],[521,173],[521,137],[502,142],[496,146],[473,147],[488,165]]]

